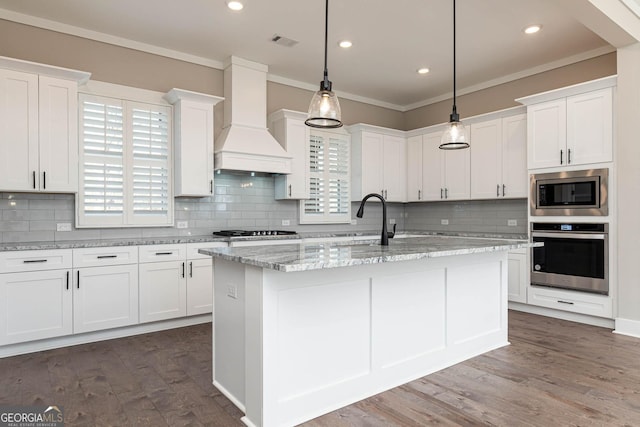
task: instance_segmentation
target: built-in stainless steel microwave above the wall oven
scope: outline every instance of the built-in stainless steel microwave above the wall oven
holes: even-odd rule
[[[532,216],[607,216],[609,169],[533,174]]]

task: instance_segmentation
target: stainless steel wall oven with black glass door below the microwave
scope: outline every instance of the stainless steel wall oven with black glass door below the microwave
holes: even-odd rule
[[[609,294],[609,224],[532,223],[531,284]]]

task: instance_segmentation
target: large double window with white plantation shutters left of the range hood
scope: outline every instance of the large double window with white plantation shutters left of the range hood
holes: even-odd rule
[[[79,227],[173,223],[171,108],[80,95]]]

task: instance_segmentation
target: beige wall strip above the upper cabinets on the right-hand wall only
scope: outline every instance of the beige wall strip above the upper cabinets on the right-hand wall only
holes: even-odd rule
[[[465,117],[521,105],[515,101],[516,98],[613,74],[616,74],[615,52],[459,96],[456,100],[458,114],[464,121]],[[411,130],[447,122],[451,105],[452,101],[447,100],[407,111],[404,114],[403,129]]]

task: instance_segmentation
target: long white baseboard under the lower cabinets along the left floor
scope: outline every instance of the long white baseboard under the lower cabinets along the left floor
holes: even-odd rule
[[[0,347],[0,358],[33,353],[36,351],[52,350],[54,348],[68,347],[71,345],[88,344],[114,338],[129,337],[149,332],[165,331],[167,329],[182,328],[184,326],[198,325],[201,323],[211,323],[211,318],[211,314],[201,314],[198,316],[125,326],[123,328],[106,329],[104,331],[87,332],[84,334],[67,335],[64,337],[10,344]]]

